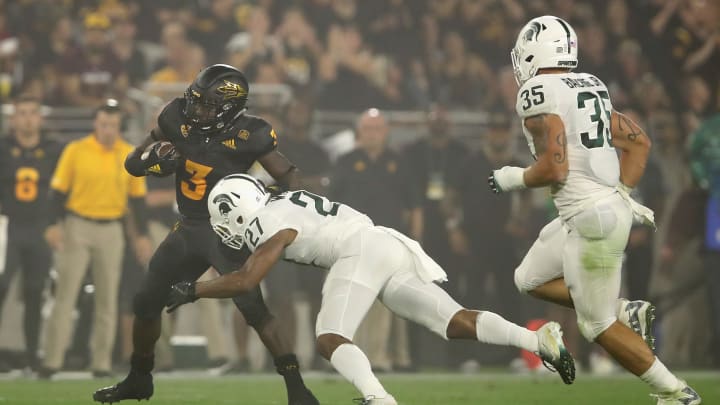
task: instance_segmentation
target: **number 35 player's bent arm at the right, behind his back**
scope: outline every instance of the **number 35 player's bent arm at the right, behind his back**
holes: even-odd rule
[[[620,182],[634,188],[645,173],[650,154],[650,138],[626,115],[612,112],[610,131],[615,149],[620,150]]]

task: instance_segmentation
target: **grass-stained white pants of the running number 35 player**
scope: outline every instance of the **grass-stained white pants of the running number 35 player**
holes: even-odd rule
[[[531,291],[564,277],[580,332],[589,341],[617,320],[623,252],[632,211],[619,194],[603,198],[563,223],[547,224],[515,270],[515,285]]]

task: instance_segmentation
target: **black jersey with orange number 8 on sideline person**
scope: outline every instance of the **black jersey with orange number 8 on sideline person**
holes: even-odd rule
[[[0,211],[21,221],[47,220],[50,179],[63,145],[45,136],[23,149],[8,136],[0,140]]]

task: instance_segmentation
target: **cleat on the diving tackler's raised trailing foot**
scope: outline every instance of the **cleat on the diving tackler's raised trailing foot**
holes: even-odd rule
[[[565,384],[575,381],[575,360],[565,348],[562,331],[557,322],[548,322],[535,331],[538,337],[538,353],[545,367],[560,374]]]

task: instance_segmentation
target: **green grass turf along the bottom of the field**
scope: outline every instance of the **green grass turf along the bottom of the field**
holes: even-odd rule
[[[681,375],[703,396],[704,404],[720,404],[720,374]],[[572,386],[555,376],[513,376],[502,374],[450,375],[418,374],[381,376],[381,380],[404,405],[634,405],[654,404],[642,383],[623,377],[594,378],[579,375]],[[92,404],[94,389],[111,380],[33,381],[0,380],[0,404],[79,405]],[[308,378],[322,404],[353,404],[358,396],[345,381],[315,375]],[[136,401],[126,401],[134,404]],[[275,376],[159,378],[149,405],[286,404],[285,389]]]

